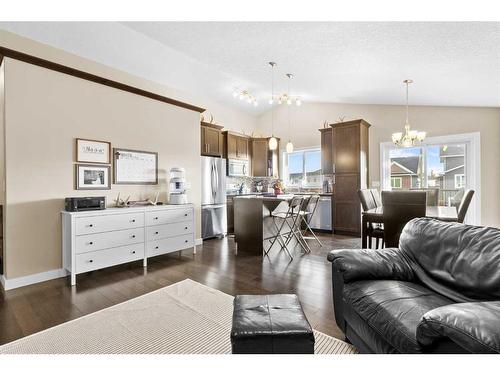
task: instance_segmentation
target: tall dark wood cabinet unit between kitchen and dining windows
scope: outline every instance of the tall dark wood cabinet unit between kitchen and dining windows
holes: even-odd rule
[[[370,124],[353,120],[332,124],[321,132],[321,169],[332,175],[332,223],[335,233],[361,234],[358,190],[368,187],[368,131]],[[331,160],[331,165],[330,165]],[[329,173],[325,173],[325,171]]]

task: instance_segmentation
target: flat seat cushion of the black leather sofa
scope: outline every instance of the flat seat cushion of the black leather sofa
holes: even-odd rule
[[[417,326],[429,310],[453,303],[424,286],[397,280],[355,281],[344,285],[344,302],[401,353],[421,353]],[[345,316],[354,330],[356,323]]]

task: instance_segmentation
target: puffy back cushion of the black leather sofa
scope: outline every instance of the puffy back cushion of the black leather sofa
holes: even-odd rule
[[[413,219],[399,248],[421,284],[454,302],[500,300],[500,229]]]

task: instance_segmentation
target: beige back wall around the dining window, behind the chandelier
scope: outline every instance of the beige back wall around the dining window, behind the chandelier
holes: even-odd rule
[[[296,148],[320,145],[319,128],[325,121],[336,122],[363,118],[370,128],[370,183],[380,181],[380,143],[403,129],[404,106],[305,103],[292,107],[291,139]],[[481,221],[482,225],[500,227],[500,108],[411,107],[413,128],[427,131],[429,136],[481,133]],[[271,133],[271,115],[266,112],[258,119],[260,133]],[[288,140],[286,106],[275,112],[275,135],[282,147]]]

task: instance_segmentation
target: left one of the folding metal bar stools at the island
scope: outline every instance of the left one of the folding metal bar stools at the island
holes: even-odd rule
[[[281,245],[281,249],[285,250],[291,260],[293,260],[293,256],[290,253],[290,249],[288,248],[288,244],[295,238],[302,249],[307,252],[307,247],[301,242],[300,236],[297,235],[297,226],[300,223],[300,209],[302,207],[303,197],[293,197],[288,205],[288,209],[286,212],[271,212],[271,217],[273,219],[274,226],[276,228],[276,234],[269,238],[271,241],[271,245],[267,250],[264,250],[264,255],[268,255],[269,251],[273,248],[276,241]],[[287,228],[289,231],[285,233]]]

